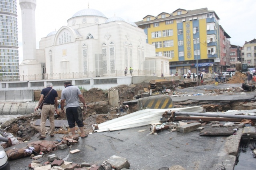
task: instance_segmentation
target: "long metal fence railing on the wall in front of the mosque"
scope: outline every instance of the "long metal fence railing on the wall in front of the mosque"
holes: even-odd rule
[[[127,76],[139,76],[139,75],[157,75],[161,76],[161,70],[127,70]],[[96,75],[96,72],[77,72],[77,73],[55,73],[55,74],[38,74],[38,75],[19,75],[19,76],[0,76],[0,81],[34,81],[34,80],[53,80],[53,79],[81,79],[81,78],[93,78],[93,77],[119,77],[125,76],[124,70],[116,70],[115,73],[107,71],[101,75]]]

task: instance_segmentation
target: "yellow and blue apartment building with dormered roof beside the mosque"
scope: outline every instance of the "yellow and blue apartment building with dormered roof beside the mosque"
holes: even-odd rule
[[[177,9],[169,14],[147,15],[135,22],[155,45],[156,56],[169,57],[170,73],[223,71],[229,65],[229,38],[219,17],[207,8]],[[222,38],[222,39],[221,39]],[[221,49],[222,48],[222,49]],[[225,49],[224,49],[225,48]]]

